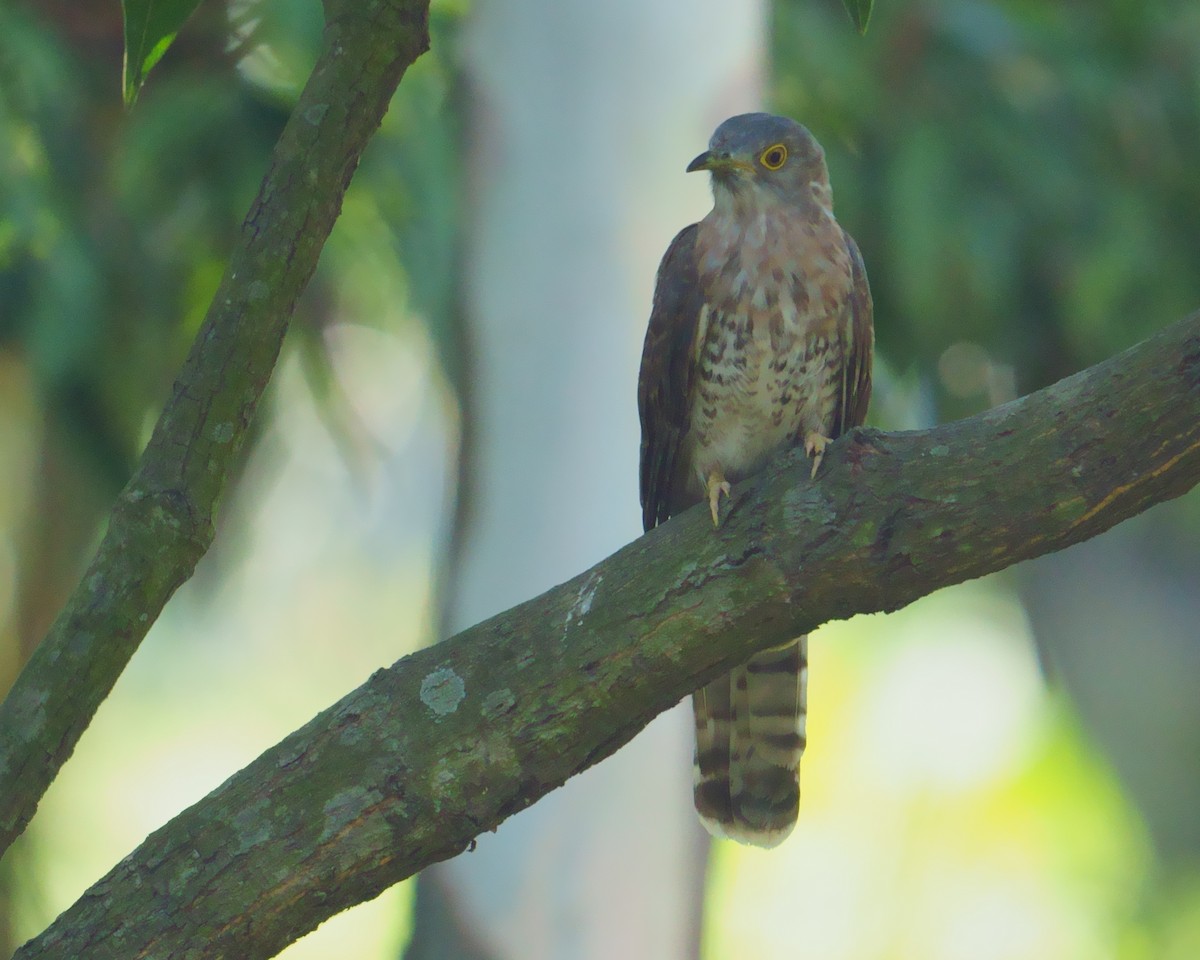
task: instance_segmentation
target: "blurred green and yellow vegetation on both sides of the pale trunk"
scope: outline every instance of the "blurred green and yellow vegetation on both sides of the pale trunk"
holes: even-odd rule
[[[875,290],[874,422],[977,412],[1200,304],[1193,6],[883,4],[863,40],[835,4],[775,4],[770,106],[826,144]],[[4,862],[7,948],[437,636],[470,382],[456,294],[470,127],[469,11],[434,11],[216,548]],[[115,4],[0,7],[5,684],[146,438],[319,28],[298,0],[209,4],[126,113]],[[822,631],[802,826],[770,857],[716,852],[708,955],[792,956],[800,930],[823,958],[1200,952],[1196,533],[1193,496],[1034,569]],[[295,955],[394,955],[403,900]]]

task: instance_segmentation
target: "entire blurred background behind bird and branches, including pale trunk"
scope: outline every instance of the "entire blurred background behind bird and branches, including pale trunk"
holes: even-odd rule
[[[0,864],[0,955],[372,670],[638,534],[653,275],[731,113],[827,149],[877,426],[1200,305],[1200,7],[877,2],[865,38],[836,0],[434,2],[215,547]],[[209,0],[126,112],[115,0],[0,6],[0,686],[148,437],[320,25],[316,0]],[[1200,956],[1198,544],[1190,496],[822,629],[775,852],[708,850],[672,714],[286,956],[414,931],[410,958]]]

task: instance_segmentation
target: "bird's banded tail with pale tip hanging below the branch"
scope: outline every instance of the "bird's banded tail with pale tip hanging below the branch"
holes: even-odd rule
[[[692,696],[696,811],[714,836],[773,847],[796,826],[808,647],[756,654]]]

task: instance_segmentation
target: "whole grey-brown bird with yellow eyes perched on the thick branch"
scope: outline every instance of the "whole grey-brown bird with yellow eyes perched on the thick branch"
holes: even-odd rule
[[[642,526],[863,422],[871,395],[871,292],[833,215],[824,150],[797,121],[732,116],[688,172],[713,209],[659,266],[637,383]],[[724,499],[722,499],[724,498]],[[755,654],[692,695],[694,799],[714,836],[773,847],[799,812],[808,637]]]

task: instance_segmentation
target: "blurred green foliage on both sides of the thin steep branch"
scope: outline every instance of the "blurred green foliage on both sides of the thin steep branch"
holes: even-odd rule
[[[298,310],[292,342],[335,431],[348,414],[324,349],[329,323],[418,316],[446,362],[457,355],[461,170],[446,104],[460,12],[436,7],[436,53],[402,85]],[[32,371],[47,443],[101,505],[204,317],[322,23],[320,6],[299,0],[205,5],[125,112],[115,5],[0,7],[0,142],[11,145],[0,156],[0,349]]]

